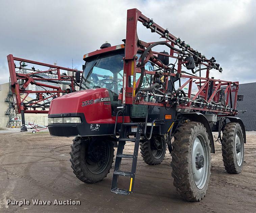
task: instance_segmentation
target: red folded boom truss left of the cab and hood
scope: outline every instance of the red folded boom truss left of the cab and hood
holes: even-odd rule
[[[49,104],[46,105],[45,101],[47,101],[47,103],[50,103],[50,99],[52,98],[59,97],[63,93],[69,93],[70,90],[75,91],[76,84],[74,79],[74,73],[82,73],[82,71],[76,69],[70,69],[57,65],[17,58],[11,54],[7,56],[7,61],[11,79],[11,91],[14,96],[15,110],[17,114],[20,114],[21,110],[24,110],[24,113],[48,114],[48,110],[45,110],[45,108],[49,108]],[[15,62],[18,62],[19,66],[16,66]],[[28,63],[33,67],[31,69],[24,68],[22,63]],[[34,66],[40,66],[41,68],[43,67],[45,68],[45,70],[35,70]],[[29,72],[21,73],[20,70],[26,70]],[[72,75],[63,75],[63,73],[61,74],[61,71],[70,71],[72,72]],[[49,74],[51,78],[44,78],[42,77],[42,74]],[[53,76],[56,76],[56,78],[54,78]],[[53,82],[57,86],[42,82]],[[42,90],[28,90],[29,84],[41,87]],[[69,90],[63,90],[59,86],[60,84],[69,85]],[[36,100],[28,104],[22,104],[26,101],[26,98],[29,96],[29,94],[36,94]],[[43,106],[41,106],[41,108],[36,107],[42,104]]]

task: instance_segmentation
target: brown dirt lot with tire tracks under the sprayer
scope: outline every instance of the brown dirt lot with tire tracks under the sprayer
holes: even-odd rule
[[[171,156],[158,166],[138,157],[134,193],[110,192],[110,174],[100,183],[85,184],[72,172],[69,151],[72,138],[51,137],[19,130],[0,131],[0,212],[256,212],[256,133],[247,133],[245,162],[241,174],[225,172],[221,145],[212,154],[211,181],[207,196],[196,203],[183,201],[175,191]],[[131,153],[132,143],[126,146]],[[124,159],[122,169],[130,168]],[[129,179],[121,179],[128,185]],[[78,200],[81,205],[7,206],[6,200]],[[8,207],[8,208],[7,208]]]

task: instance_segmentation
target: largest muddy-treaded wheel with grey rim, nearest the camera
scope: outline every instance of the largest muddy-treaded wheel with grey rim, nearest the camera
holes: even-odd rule
[[[210,180],[210,141],[202,123],[182,124],[174,135],[172,177],[178,194],[187,201],[200,201]]]

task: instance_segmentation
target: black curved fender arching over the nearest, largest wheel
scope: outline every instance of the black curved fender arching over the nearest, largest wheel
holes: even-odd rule
[[[207,118],[200,112],[182,113],[182,115],[191,121],[200,122],[204,125],[204,127],[206,128],[206,132],[208,133],[208,138],[210,140],[211,153],[215,153],[214,140],[211,132],[211,127]]]

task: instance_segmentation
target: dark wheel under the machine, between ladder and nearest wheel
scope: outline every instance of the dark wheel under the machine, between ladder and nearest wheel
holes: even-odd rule
[[[148,165],[160,164],[166,153],[166,141],[163,136],[153,135],[145,142],[140,142],[140,153],[144,162]]]

